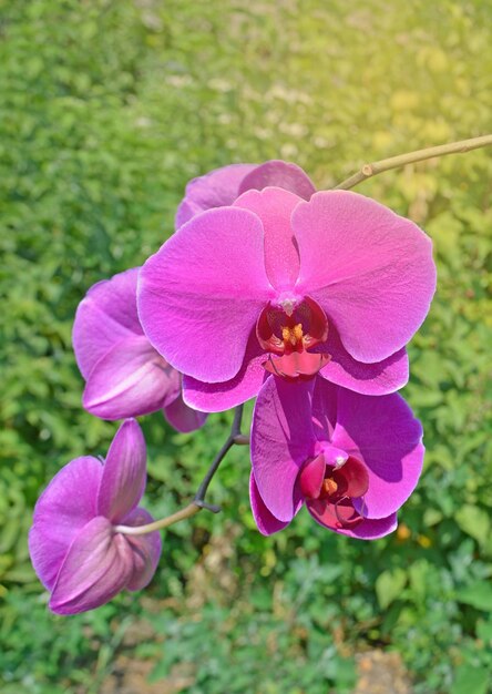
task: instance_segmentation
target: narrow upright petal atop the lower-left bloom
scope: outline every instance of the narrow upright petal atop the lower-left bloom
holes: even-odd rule
[[[107,451],[98,493],[98,513],[121,522],[142,499],[145,481],[145,439],[137,421],[127,419]]]

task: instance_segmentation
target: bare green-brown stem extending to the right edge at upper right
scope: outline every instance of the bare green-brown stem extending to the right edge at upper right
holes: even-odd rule
[[[362,181],[371,178],[372,176],[376,176],[385,171],[390,171],[391,169],[399,169],[400,166],[406,166],[407,164],[423,162],[427,159],[444,156],[445,154],[463,154],[464,152],[478,150],[479,147],[485,147],[490,144],[492,144],[492,135],[483,135],[481,137],[460,140],[459,142],[450,142],[449,144],[441,144],[437,147],[427,147],[426,150],[417,150],[416,152],[408,152],[407,154],[399,154],[398,156],[382,159],[381,161],[373,162],[372,164],[365,164],[360,171],[336,185],[335,190],[349,191]]]

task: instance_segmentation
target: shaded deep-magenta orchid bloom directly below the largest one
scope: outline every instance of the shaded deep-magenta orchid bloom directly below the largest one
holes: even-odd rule
[[[303,504],[321,525],[365,540],[397,527],[418,482],[422,427],[398,394],[363,396],[322,378],[269,378],[253,418],[250,501],[264,534]]]

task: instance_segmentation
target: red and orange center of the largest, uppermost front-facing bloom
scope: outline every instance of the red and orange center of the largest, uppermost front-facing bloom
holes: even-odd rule
[[[277,305],[269,303],[259,315],[256,335],[269,353],[263,366],[276,376],[311,378],[330,359],[328,354],[308,353],[328,337],[325,312],[308,296],[300,302],[284,298]]]

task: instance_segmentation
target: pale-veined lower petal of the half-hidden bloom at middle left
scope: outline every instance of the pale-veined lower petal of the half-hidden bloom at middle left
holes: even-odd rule
[[[112,347],[89,375],[82,404],[103,419],[148,415],[172,402],[181,376],[143,335]]]

